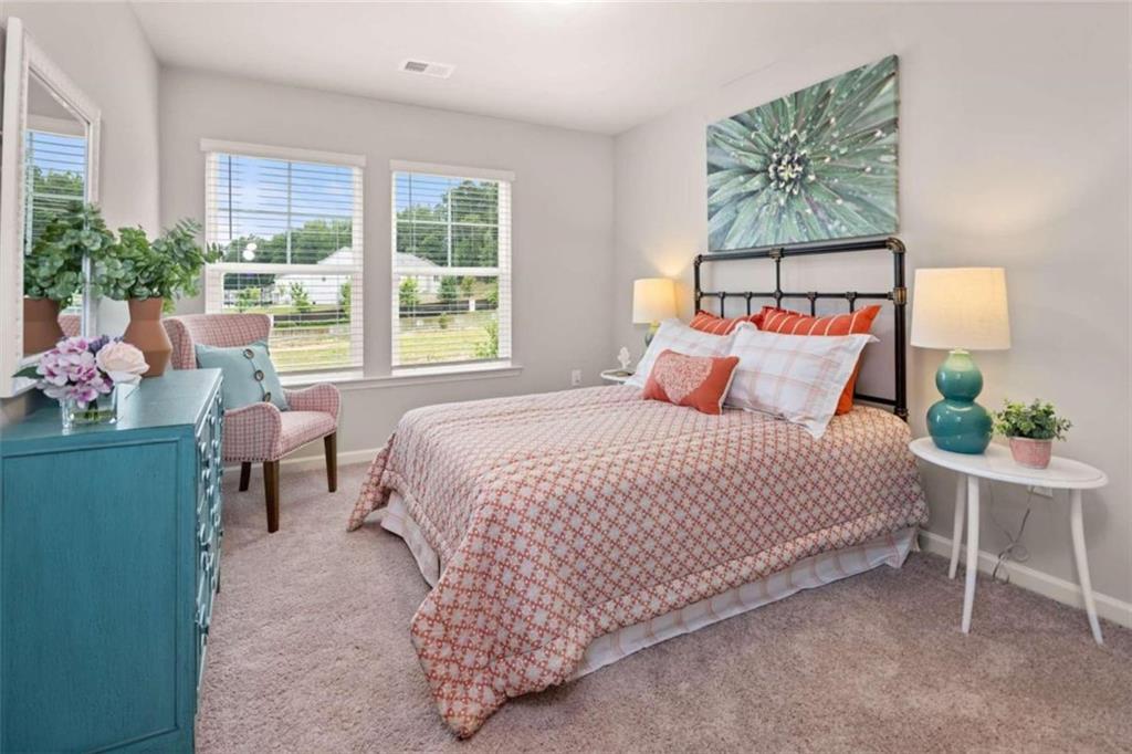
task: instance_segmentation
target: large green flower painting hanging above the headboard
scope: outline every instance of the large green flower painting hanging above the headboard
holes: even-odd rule
[[[897,57],[707,128],[709,250],[897,230]]]

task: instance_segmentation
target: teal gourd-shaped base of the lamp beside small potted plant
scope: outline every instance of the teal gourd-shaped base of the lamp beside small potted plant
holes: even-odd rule
[[[935,372],[943,400],[927,410],[927,431],[936,446],[952,453],[979,454],[990,444],[990,413],[975,402],[983,372],[967,351],[947,354]]]

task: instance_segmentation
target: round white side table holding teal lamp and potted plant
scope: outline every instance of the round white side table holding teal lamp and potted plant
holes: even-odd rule
[[[935,446],[931,437],[912,440],[909,448],[919,459],[943,469],[959,472],[955,487],[955,520],[951,535],[951,566],[947,576],[955,577],[959,565],[959,548],[963,539],[963,508],[967,514],[967,584],[963,591],[963,633],[971,629],[971,607],[975,602],[975,575],[979,564],[979,479],[989,479],[1027,487],[1048,487],[1069,490],[1069,525],[1073,538],[1073,557],[1077,575],[1084,597],[1084,610],[1089,615],[1089,627],[1098,644],[1104,644],[1100,624],[1097,623],[1097,605],[1092,599],[1092,582],[1089,580],[1089,559],[1084,550],[1084,528],[1081,521],[1081,490],[1096,489],[1108,483],[1108,477],[1098,469],[1069,459],[1054,456],[1047,469],[1027,469],[1014,462],[1010,449],[992,444],[986,453],[969,455],[950,453]],[[964,497],[967,505],[964,506]]]

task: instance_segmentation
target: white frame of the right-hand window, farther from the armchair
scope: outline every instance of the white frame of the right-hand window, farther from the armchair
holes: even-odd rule
[[[440,178],[462,178],[487,180],[499,183],[499,204],[507,207],[506,219],[499,216],[499,235],[496,266],[494,267],[398,267],[397,259],[397,173],[414,173],[437,175]],[[443,165],[432,162],[410,162],[405,160],[389,161],[389,363],[393,376],[410,376],[427,372],[455,372],[483,369],[484,367],[509,367],[512,365],[512,301],[511,301],[511,262],[512,262],[512,185],[515,173],[509,170],[488,168],[468,168],[460,165]],[[506,205],[504,205],[506,203]],[[495,359],[473,359],[468,361],[444,361],[424,365],[397,365],[397,327],[401,316],[401,297],[397,284],[401,275],[440,275],[496,277],[499,289],[499,306],[496,309],[499,326],[498,355]]]

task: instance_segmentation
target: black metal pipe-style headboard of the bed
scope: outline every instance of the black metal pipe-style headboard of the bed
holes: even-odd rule
[[[794,292],[782,290],[782,259],[787,257],[800,257],[817,254],[843,254],[847,251],[877,251],[887,249],[892,252],[892,289],[883,292],[860,292],[842,291],[826,293],[821,291]],[[704,291],[700,286],[700,265],[710,262],[728,262],[731,259],[773,259],[774,260],[774,290],[773,291]],[[877,395],[866,395],[854,393],[854,397],[868,403],[880,403],[891,405],[893,412],[901,419],[908,419],[908,357],[906,318],[908,308],[908,288],[904,285],[904,245],[895,237],[852,239],[850,241],[835,241],[830,243],[794,243],[790,246],[765,246],[755,249],[736,249],[734,251],[713,251],[712,254],[701,254],[695,258],[695,285],[696,285],[696,310],[702,308],[703,299],[719,299],[720,314],[724,314],[723,303],[727,299],[746,299],[747,314],[752,314],[751,302],[753,299],[774,299],[778,307],[782,299],[806,299],[809,301],[809,314],[817,314],[818,299],[843,299],[849,302],[849,311],[854,311],[859,299],[878,299],[892,301],[894,327],[893,335],[895,343],[895,389],[893,397]]]

